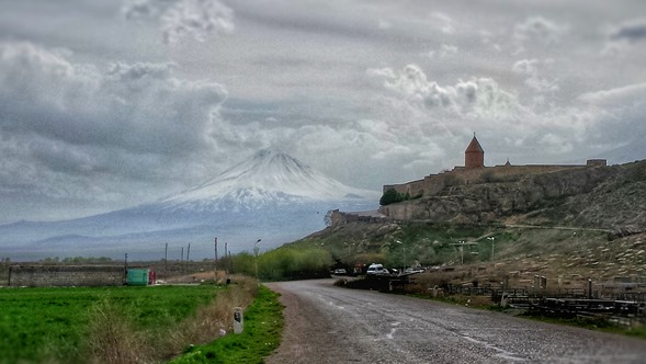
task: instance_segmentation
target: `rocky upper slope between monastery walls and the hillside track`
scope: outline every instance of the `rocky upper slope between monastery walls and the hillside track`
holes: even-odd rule
[[[646,230],[646,161],[479,183],[382,207],[401,220]]]

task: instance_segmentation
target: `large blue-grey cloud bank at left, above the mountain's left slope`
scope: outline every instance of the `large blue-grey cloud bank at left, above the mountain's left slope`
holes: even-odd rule
[[[2,155],[14,156],[0,185],[80,198],[194,174],[215,151],[227,91],[172,69],[116,62],[100,72],[31,43],[0,43],[0,134],[11,140]]]

